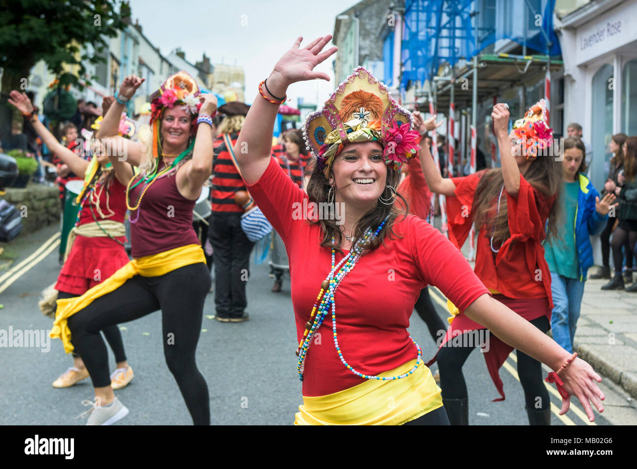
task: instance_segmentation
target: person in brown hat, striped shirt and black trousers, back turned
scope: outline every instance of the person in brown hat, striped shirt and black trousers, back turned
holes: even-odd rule
[[[245,311],[245,293],[250,278],[250,252],[254,243],[241,228],[244,205],[250,199],[226,141],[234,145],[243,126],[248,106],[229,101],[220,106],[225,114],[217,129],[212,163],[212,216],[208,230],[215,269],[215,319],[220,322],[243,322],[250,319]],[[243,150],[241,150],[243,151]]]

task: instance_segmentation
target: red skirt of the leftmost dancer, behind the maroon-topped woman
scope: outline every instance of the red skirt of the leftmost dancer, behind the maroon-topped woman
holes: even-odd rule
[[[115,239],[122,243],[126,242],[125,236]],[[124,246],[111,238],[77,236],[69,257],[57,277],[55,289],[82,295],[128,262],[129,258]]]

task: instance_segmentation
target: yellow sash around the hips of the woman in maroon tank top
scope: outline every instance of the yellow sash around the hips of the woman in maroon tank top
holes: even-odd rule
[[[69,317],[76,312],[83,310],[100,296],[110,293],[124,285],[126,280],[135,275],[141,275],[142,277],[159,277],[159,275],[166,275],[178,268],[200,262],[205,264],[206,257],[203,254],[203,249],[201,249],[201,246],[198,244],[189,244],[152,256],[132,259],[132,261],[125,264],[122,268],[113,273],[113,275],[104,280],[104,282],[87,290],[82,296],[58,299],[55,321],[50,336],[62,340],[66,353],[73,352],[71,331],[69,330],[67,321]]]

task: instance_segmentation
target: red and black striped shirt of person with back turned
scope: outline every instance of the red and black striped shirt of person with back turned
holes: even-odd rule
[[[238,133],[229,134],[234,145],[239,138]],[[243,213],[243,208],[234,203],[234,194],[247,191],[239,175],[223,136],[213,142],[214,157],[212,161],[212,211],[217,213]]]

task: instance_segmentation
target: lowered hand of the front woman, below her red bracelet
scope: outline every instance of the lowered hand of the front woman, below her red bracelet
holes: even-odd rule
[[[601,401],[605,399],[605,396],[595,383],[596,381],[598,383],[601,382],[601,377],[593,370],[590,364],[580,358],[576,358],[573,363],[564,368],[564,371],[560,373],[560,377],[564,382],[564,389],[571,396],[575,396],[580,400],[586,415],[589,417],[589,421],[595,420],[595,414],[593,414],[590,403],[597,408],[598,412],[604,412],[604,406]],[[571,405],[571,396],[568,398],[562,397],[560,415],[568,412],[568,408]]]

